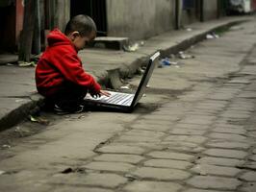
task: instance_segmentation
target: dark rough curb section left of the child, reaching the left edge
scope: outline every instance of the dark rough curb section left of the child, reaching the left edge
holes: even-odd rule
[[[32,94],[30,100],[25,104],[22,104],[18,108],[13,109],[0,119],[0,132],[12,128],[16,124],[20,123],[30,114],[33,114],[39,110],[39,107],[43,105],[44,99],[38,94]]]

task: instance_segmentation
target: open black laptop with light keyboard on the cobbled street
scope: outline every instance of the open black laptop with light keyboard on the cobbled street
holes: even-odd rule
[[[111,93],[110,97],[101,96],[98,98],[93,98],[88,94],[85,97],[85,101],[89,106],[93,106],[96,108],[104,108],[104,109],[114,109],[118,111],[131,112],[139,103],[142,95],[145,92],[146,85],[153,73],[154,68],[156,67],[156,62],[160,57],[160,53],[156,52],[153,56],[150,57],[145,72],[141,78],[141,83],[138,86],[137,91],[132,93],[124,93],[124,92],[115,92],[109,91]]]

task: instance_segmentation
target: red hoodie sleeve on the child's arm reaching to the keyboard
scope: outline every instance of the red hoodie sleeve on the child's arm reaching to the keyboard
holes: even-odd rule
[[[53,63],[58,63],[56,67],[64,75],[65,80],[85,86],[93,93],[100,91],[100,85],[83,69],[81,60],[79,60],[77,55],[72,53],[64,54],[63,57],[58,57],[58,60],[55,60]]]

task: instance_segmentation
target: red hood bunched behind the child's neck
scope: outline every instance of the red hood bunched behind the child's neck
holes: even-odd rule
[[[53,30],[47,36],[48,45],[56,46],[56,45],[70,45],[71,42],[59,29]]]

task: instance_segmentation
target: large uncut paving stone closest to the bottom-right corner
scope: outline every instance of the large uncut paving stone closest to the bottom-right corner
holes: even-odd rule
[[[212,176],[195,176],[187,181],[193,187],[202,189],[236,190],[242,184],[240,180]]]

